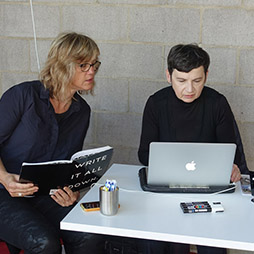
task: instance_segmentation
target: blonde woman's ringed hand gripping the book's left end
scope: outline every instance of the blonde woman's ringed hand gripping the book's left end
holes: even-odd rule
[[[31,196],[38,191],[38,187],[33,183],[20,183],[19,175],[5,173],[1,183],[12,197]]]

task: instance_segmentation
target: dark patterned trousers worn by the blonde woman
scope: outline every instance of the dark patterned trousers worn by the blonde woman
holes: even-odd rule
[[[12,198],[0,189],[0,239],[25,254],[104,253],[103,236],[60,230],[60,221],[73,208],[58,205],[50,196]]]

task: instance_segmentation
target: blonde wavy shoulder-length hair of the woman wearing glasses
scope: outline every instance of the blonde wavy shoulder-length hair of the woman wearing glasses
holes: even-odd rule
[[[96,59],[99,54],[100,50],[91,38],[74,32],[59,34],[52,42],[45,66],[39,74],[50,97],[65,100],[75,65]]]

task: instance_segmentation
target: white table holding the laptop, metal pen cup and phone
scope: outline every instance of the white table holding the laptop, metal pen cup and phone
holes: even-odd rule
[[[142,166],[114,164],[80,202],[95,201],[99,185],[116,179],[120,209],[115,216],[84,212],[80,202],[61,229],[254,251],[254,203],[241,194],[157,194],[140,188]],[[184,214],[182,201],[220,201],[223,213]]]

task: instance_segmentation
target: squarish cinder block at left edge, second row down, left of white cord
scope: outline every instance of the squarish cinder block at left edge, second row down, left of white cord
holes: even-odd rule
[[[29,70],[29,42],[27,40],[0,39],[0,48],[0,70]]]

